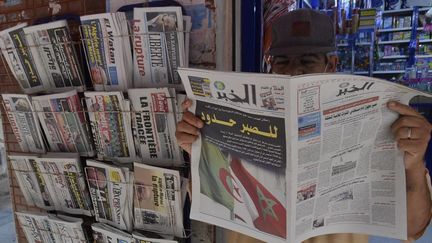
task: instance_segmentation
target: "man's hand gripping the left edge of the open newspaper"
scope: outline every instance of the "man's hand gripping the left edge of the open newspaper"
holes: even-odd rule
[[[199,129],[204,126],[204,122],[201,119],[188,111],[191,105],[192,101],[189,99],[186,99],[182,103],[183,118],[177,124],[176,130],[177,143],[189,154],[191,153],[192,143],[199,136]]]

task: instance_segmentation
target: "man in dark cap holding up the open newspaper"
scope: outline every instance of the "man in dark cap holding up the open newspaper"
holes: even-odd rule
[[[333,23],[325,14],[309,9],[295,10],[280,17],[273,25],[273,41],[269,50],[273,73],[302,75],[335,72],[338,60],[335,51]],[[183,103],[184,114],[176,131],[179,145],[188,153],[191,153],[191,145],[198,138],[200,128],[204,126],[200,118],[187,111],[191,105],[190,100]],[[391,131],[399,149],[405,152],[408,237],[417,239],[425,231],[432,214],[430,178],[424,165],[432,125],[409,106],[389,102],[388,108],[400,115],[391,126]],[[210,167],[238,167],[236,163],[230,164],[217,153],[210,157],[211,161],[217,161],[218,164],[205,165],[209,170]],[[235,171],[235,168],[232,170]],[[248,191],[248,188],[245,189]],[[223,192],[213,196],[218,196],[218,199],[223,201]],[[277,231],[277,224],[272,227]],[[234,232],[229,232],[227,237],[229,242],[258,242]],[[368,237],[359,234],[333,234],[314,237],[305,242],[366,243]]]

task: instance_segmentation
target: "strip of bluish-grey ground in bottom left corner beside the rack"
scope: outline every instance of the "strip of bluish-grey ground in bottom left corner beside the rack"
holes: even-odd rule
[[[9,179],[7,174],[0,175],[0,242],[14,243],[16,241],[15,222],[9,194]]]

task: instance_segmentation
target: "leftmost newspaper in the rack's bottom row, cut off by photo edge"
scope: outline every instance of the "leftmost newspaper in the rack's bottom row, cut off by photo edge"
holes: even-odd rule
[[[16,215],[30,243],[88,242],[80,218],[34,212],[16,212]]]

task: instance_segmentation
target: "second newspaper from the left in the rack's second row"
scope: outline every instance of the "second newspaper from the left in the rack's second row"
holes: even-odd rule
[[[93,156],[85,114],[77,91],[32,97],[51,151]]]

